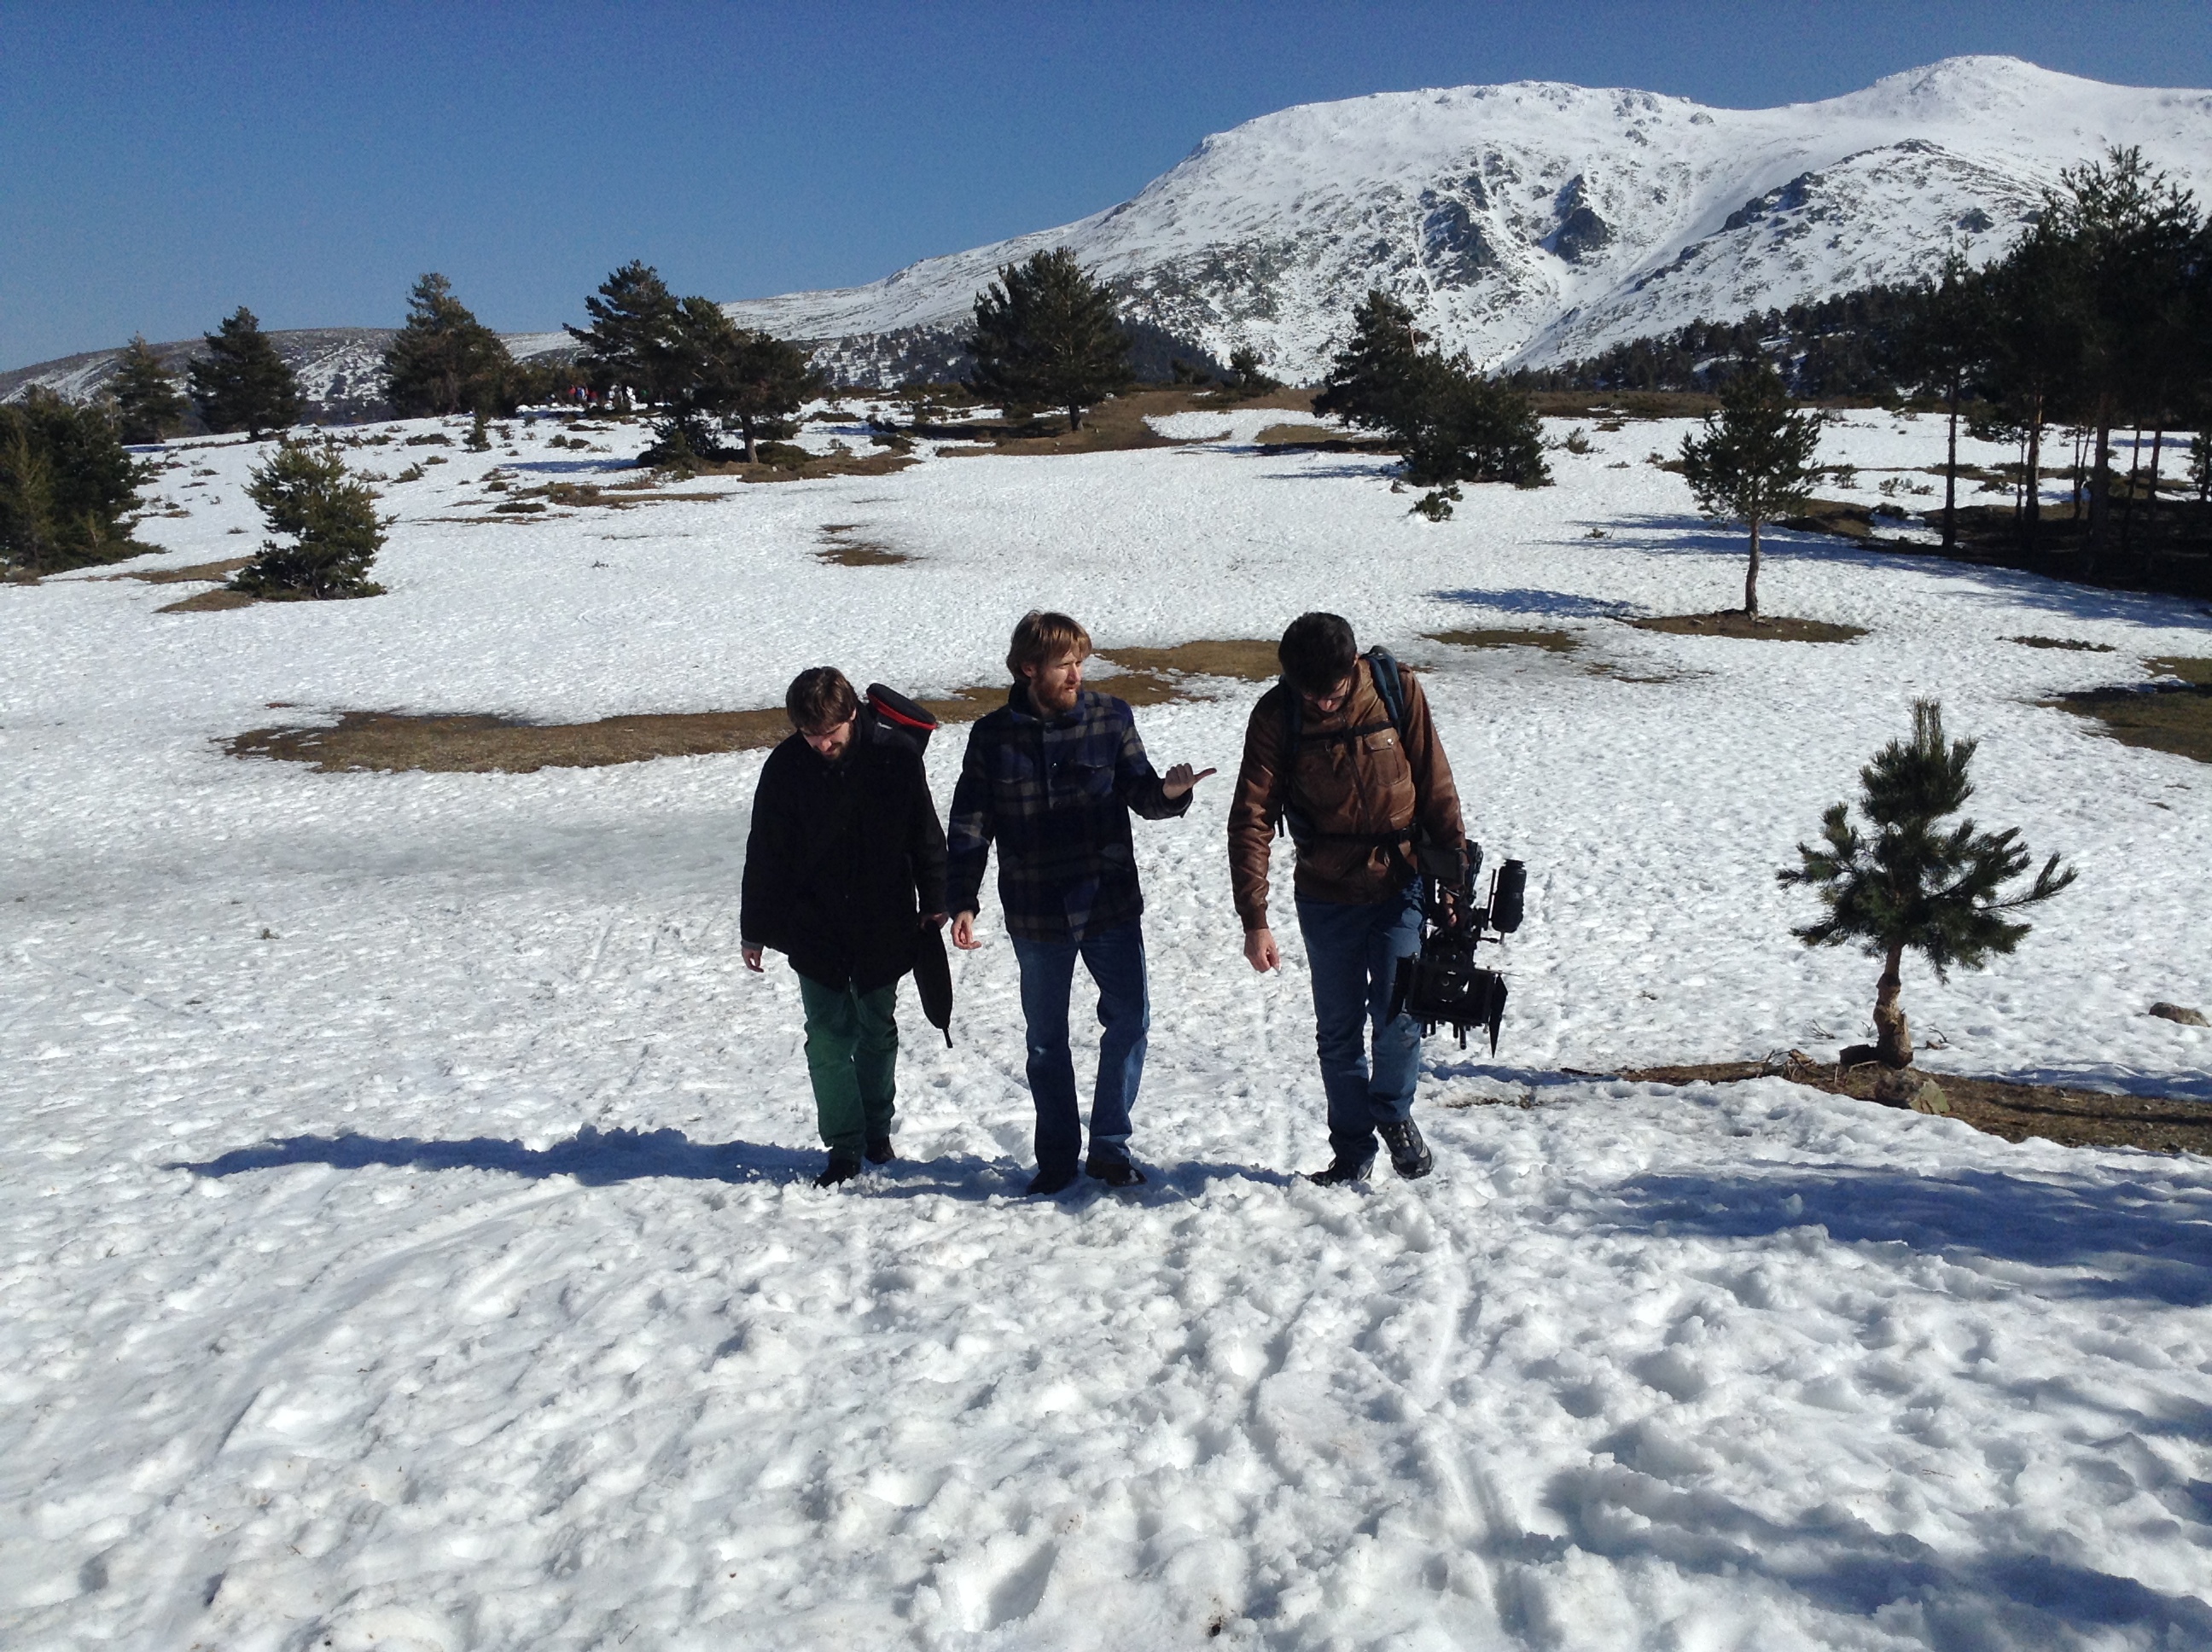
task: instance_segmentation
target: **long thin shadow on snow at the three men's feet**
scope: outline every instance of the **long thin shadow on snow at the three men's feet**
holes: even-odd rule
[[[420,1137],[285,1137],[199,1163],[179,1161],[164,1170],[190,1170],[195,1177],[241,1177],[283,1165],[332,1165],[367,1170],[389,1165],[403,1170],[495,1170],[509,1177],[573,1177],[586,1188],[617,1181],[812,1181],[823,1168],[821,1148],[776,1148],[752,1141],[692,1141],[681,1130],[595,1130],[584,1126],[551,1148],[526,1148],[520,1141],[471,1137],[467,1141],[425,1141]],[[975,1154],[938,1159],[894,1159],[847,1183],[852,1192],[878,1199],[1004,1199],[1029,1185],[1029,1168]],[[1115,1194],[1139,1203],[1192,1199],[1212,1181],[1243,1179],[1287,1183],[1276,1170],[1230,1163],[1179,1163],[1152,1170],[1148,1185]],[[1108,1190],[1097,1181],[1079,1181],[1057,1203],[1079,1205]],[[1053,1201],[1046,1201],[1053,1203]]]

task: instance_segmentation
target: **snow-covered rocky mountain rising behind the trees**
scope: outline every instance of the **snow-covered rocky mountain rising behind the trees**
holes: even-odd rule
[[[1068,245],[1130,312],[1283,376],[1321,369],[1369,290],[1484,365],[1995,254],[2059,168],[2139,144],[2212,186],[2212,93],[1951,57],[1849,97],[1703,108],[1551,82],[1303,104],[1208,137],[1137,199],[865,287],[728,305],[845,367],[942,347],[1013,259]]]

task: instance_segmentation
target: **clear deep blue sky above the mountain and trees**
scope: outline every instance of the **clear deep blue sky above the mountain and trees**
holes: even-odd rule
[[[0,367],[849,285],[1128,199],[1285,104],[1571,80],[1829,97],[1964,51],[2212,86],[2212,4],[126,4],[0,0]]]

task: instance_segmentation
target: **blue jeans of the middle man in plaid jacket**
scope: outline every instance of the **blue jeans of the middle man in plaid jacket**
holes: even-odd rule
[[[1091,1097],[1091,1157],[1128,1161],[1128,1110],[1144,1077],[1144,1035],[1152,1006],[1144,993],[1144,920],[1086,940],[1013,940],[1022,966],[1022,1017],[1029,1022],[1029,1099],[1037,1106],[1037,1170],[1073,1174],[1084,1146],[1068,1053],[1068,991],[1075,958],[1099,986],[1099,1081]]]

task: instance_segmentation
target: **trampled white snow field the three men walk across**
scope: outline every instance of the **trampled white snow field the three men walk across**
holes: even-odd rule
[[[2212,1000],[2203,770],[2035,703],[2212,652],[2212,617],[1776,535],[1765,606],[1869,637],[1650,635],[1617,617],[1741,593],[1741,540],[1644,462],[1681,427],[1449,524],[1365,456],[1177,429],[1217,431],[498,526],[451,520],[487,469],[615,480],[635,427],[394,442],[352,458],[449,462],[385,484],[374,602],[0,588],[0,1639],[2212,1645],[2203,1161],[1566,1073],[1865,1031],[1874,966],[1801,949],[1772,871],[1933,692],[1980,816],[2081,880],[1991,973],[1909,969],[1927,1064],[2212,1101],[2212,1037],[2143,1015]],[[1856,414],[1825,458],[1876,502],[1938,449]],[[257,542],[259,451],[173,449],[148,566]],[[825,524],[914,560],[823,564]],[[1139,825],[1152,1181],[1026,1203],[995,911],[956,1048],[909,1013],[900,1163],[805,1183],[799,995],[737,949],[759,754],[219,750],[347,708],[772,705],[818,661],[993,681],[1031,606],[1108,650],[1329,606],[1429,668],[1475,836],[1531,867],[1498,1059],[1429,1044],[1429,1181],[1294,1181],[1303,953],[1283,909],[1283,975],[1239,958],[1225,778]],[[1582,648],[1422,641],[1498,626]],[[1139,723],[1232,767],[1254,692]]]

